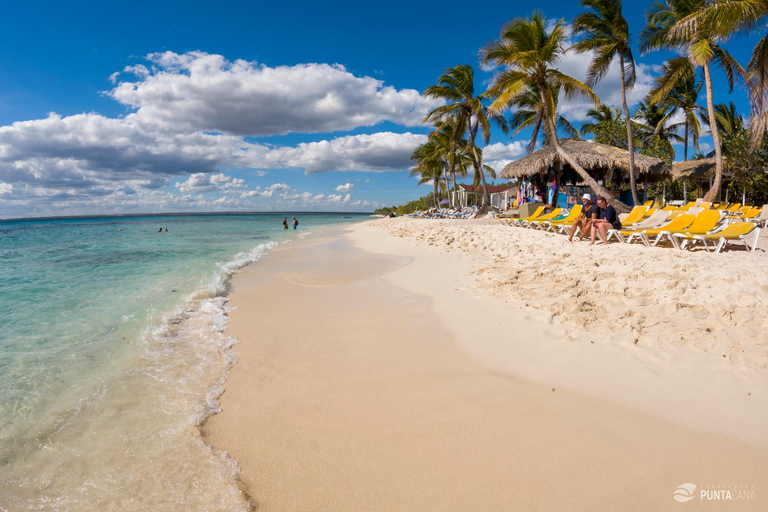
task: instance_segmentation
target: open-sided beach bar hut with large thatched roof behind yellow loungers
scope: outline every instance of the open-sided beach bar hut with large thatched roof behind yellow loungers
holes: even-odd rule
[[[629,151],[580,139],[563,139],[560,145],[595,181],[609,190],[616,190],[622,183],[629,182]],[[643,184],[669,180],[672,172],[663,160],[638,153],[635,153],[635,169],[639,173],[638,188]],[[520,180],[521,188],[527,194],[539,190],[546,202],[556,202],[563,208],[576,204],[582,194],[593,193],[554,146],[545,146],[507,164],[500,176]],[[553,187],[554,183],[557,187]],[[557,192],[556,198],[552,197],[553,191]],[[620,201],[632,205],[629,191],[617,192],[616,195]]]

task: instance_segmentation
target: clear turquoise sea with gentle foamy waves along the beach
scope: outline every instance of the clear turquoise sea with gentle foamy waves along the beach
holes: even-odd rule
[[[226,283],[362,219],[0,222],[0,510],[247,510],[198,428],[235,362]]]

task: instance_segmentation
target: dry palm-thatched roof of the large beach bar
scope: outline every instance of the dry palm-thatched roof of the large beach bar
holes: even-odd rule
[[[560,141],[560,146],[587,172],[615,169],[629,171],[629,151],[625,149],[579,139],[563,139]],[[568,167],[568,163],[563,161],[554,146],[550,145],[507,164],[500,176],[508,179],[533,176],[546,171],[556,163],[562,163],[563,167]],[[664,161],[640,154],[635,154],[635,168],[640,174],[654,176],[657,179],[666,178],[671,172],[670,166]]]

